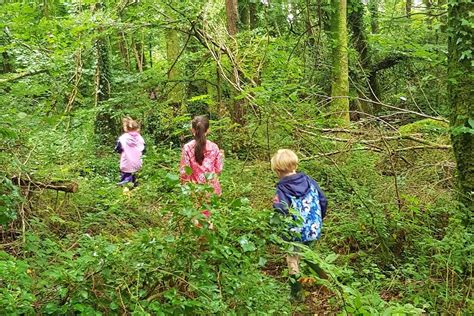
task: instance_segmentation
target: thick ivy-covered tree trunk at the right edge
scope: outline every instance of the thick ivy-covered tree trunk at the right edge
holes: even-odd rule
[[[474,67],[472,50],[474,35],[470,29],[470,12],[474,4],[452,1],[448,7],[448,94],[451,107],[451,140],[457,162],[460,200],[466,209],[474,210]],[[469,214],[467,214],[469,220]]]

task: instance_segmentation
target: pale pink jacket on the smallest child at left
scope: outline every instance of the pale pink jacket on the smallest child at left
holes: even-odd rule
[[[142,152],[145,141],[138,132],[128,132],[119,137],[122,149],[120,154],[120,171],[134,173],[142,167]]]

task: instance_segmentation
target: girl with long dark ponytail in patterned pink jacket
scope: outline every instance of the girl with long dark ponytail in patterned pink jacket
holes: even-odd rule
[[[184,145],[181,153],[181,181],[208,183],[214,188],[215,194],[221,195],[222,189],[217,176],[224,166],[224,153],[216,144],[207,140],[209,119],[203,115],[196,116],[192,120],[192,132],[194,140]],[[186,166],[191,168],[191,174],[186,173]],[[208,175],[212,176],[210,180]]]

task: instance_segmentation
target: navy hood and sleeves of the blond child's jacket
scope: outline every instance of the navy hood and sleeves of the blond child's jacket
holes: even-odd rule
[[[326,216],[328,200],[318,183],[302,172],[284,177],[277,183],[277,195],[273,208],[284,215],[288,215],[288,206],[291,206],[291,198],[300,199],[306,196],[311,190],[311,184],[319,194],[319,205],[322,218],[324,218]]]

